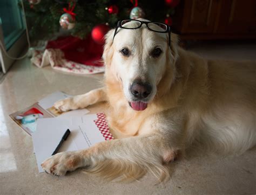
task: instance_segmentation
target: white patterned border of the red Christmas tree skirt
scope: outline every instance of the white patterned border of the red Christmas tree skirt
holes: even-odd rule
[[[64,52],[58,48],[46,48],[43,52],[33,51],[31,62],[39,68],[51,66],[53,69],[75,74],[96,74],[105,70],[104,66],[89,66],[70,61],[65,58]]]

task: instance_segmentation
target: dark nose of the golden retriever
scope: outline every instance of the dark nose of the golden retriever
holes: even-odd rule
[[[146,98],[151,94],[152,87],[149,83],[135,81],[132,83],[130,91],[134,98]]]

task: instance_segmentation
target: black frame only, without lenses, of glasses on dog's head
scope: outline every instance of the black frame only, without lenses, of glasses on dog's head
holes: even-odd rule
[[[137,21],[140,23],[140,25],[138,27],[134,27],[134,28],[127,28],[127,27],[123,27],[122,26],[122,22],[125,21],[125,20],[131,20],[131,21]],[[158,23],[158,24],[163,24],[163,25],[166,25],[166,30],[165,31],[156,31],[156,30],[152,30],[150,29],[149,25],[150,23]],[[118,28],[120,29],[139,29],[140,27],[142,27],[143,24],[146,24],[147,26],[147,29],[149,29],[150,31],[154,31],[154,32],[159,32],[159,33],[168,33],[168,37],[169,37],[169,46],[171,48],[171,37],[170,37],[170,33],[171,33],[171,26],[167,25],[167,24],[164,24],[164,23],[160,23],[160,22],[145,22],[145,21],[140,21],[140,20],[137,20],[137,19],[124,19],[124,20],[119,20],[118,23],[117,23],[117,26],[116,26],[116,29],[114,30],[114,36],[113,36],[113,41],[114,41],[114,37],[116,36],[117,34],[117,30]]]

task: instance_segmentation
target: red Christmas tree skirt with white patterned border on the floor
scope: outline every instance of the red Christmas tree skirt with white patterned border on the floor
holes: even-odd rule
[[[85,39],[73,36],[47,41],[41,51],[32,50],[31,62],[42,68],[51,66],[63,72],[96,74],[104,72],[103,45],[97,44],[89,34]]]

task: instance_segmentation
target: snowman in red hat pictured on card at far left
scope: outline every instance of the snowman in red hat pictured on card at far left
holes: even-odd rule
[[[37,108],[31,108],[21,115],[15,117],[23,127],[33,133],[36,131],[36,121],[37,119],[43,118],[43,113]]]

